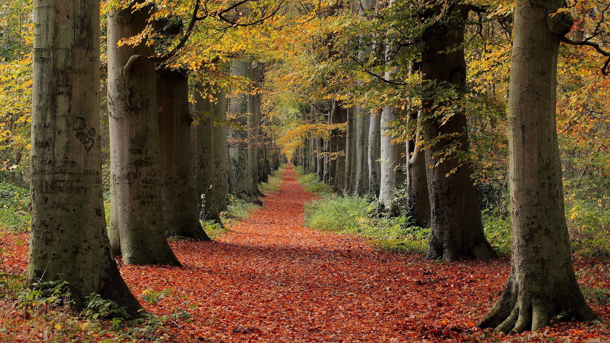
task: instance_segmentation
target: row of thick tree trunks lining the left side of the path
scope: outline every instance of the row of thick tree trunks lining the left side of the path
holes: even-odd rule
[[[243,3],[224,4],[215,15]],[[261,123],[262,68],[236,58],[231,73],[242,86],[227,90],[202,82],[196,71],[163,63],[180,43],[161,57],[150,38],[121,43],[151,22],[160,44],[181,32],[184,41],[199,19],[198,7],[196,2],[187,28],[171,18],[153,21],[154,7],[145,1],[107,13],[107,230],[99,1],[35,1],[29,285],[63,280],[76,308],[100,294],[135,315],[141,306],[114,256],[127,264],[180,266],[168,238],[209,240],[200,220],[222,225],[219,213],[226,211],[229,193],[248,200],[262,195],[258,183],[280,158]],[[235,94],[227,97],[229,91]]]

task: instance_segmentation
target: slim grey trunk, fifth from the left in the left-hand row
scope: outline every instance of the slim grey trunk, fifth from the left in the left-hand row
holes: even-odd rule
[[[212,128],[214,141],[214,186],[218,211],[227,210],[226,196],[229,193],[229,179],[232,168],[229,166],[229,145],[227,144],[227,105],[224,90],[215,94],[217,102],[213,106],[215,126]]]

